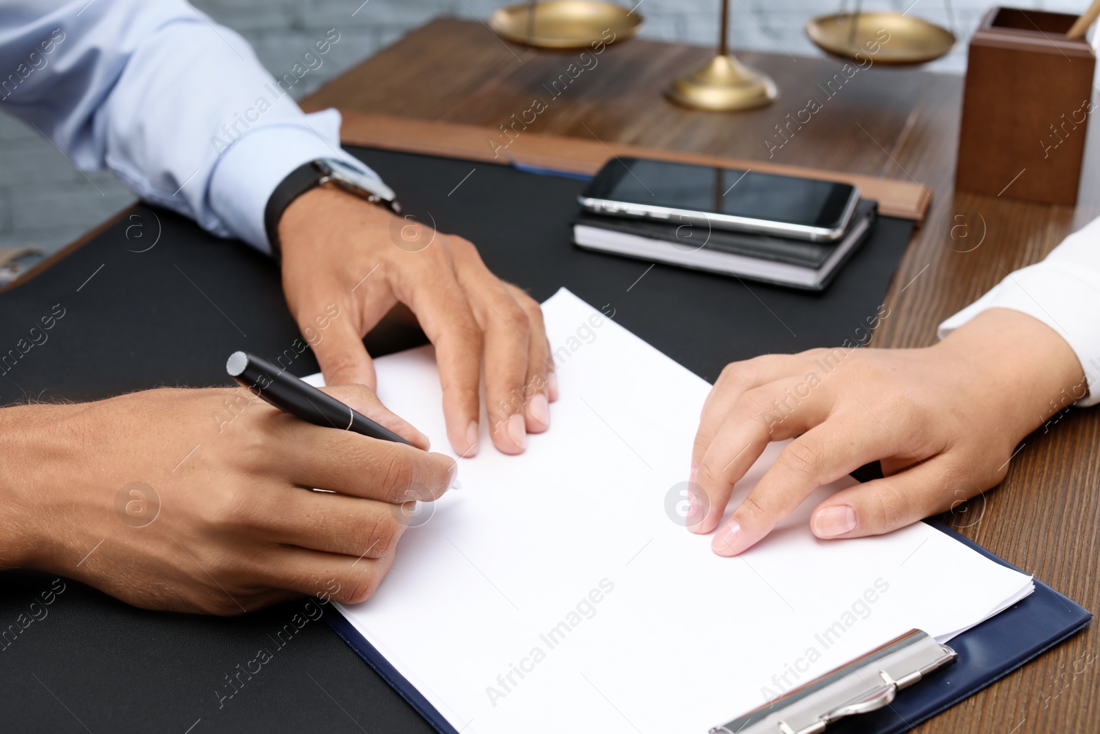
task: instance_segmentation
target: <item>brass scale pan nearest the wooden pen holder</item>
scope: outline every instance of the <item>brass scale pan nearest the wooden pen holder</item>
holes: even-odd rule
[[[854,21],[855,19],[855,21]],[[853,33],[855,22],[855,33]],[[889,39],[882,42],[881,34]],[[806,35],[834,56],[876,64],[906,66],[939,58],[955,45],[955,35],[920,18],[897,12],[836,13],[806,21]],[[871,53],[875,44],[878,53]],[[856,58],[859,53],[860,57]]]

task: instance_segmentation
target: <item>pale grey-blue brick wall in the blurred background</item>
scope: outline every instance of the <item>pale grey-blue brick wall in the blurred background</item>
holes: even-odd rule
[[[326,31],[339,30],[340,42],[324,64],[296,85],[297,98],[339,75],[404,33],[436,15],[487,19],[506,4],[494,0],[191,0],[217,21],[237,29],[275,75],[289,70],[298,56]],[[510,1],[510,0],[509,0]],[[615,0],[634,4],[638,0]],[[739,48],[818,55],[803,32],[812,15],[837,12],[837,2],[822,0],[730,0],[730,43]],[[855,0],[848,0],[854,7]],[[866,0],[867,10],[904,10],[950,26],[947,6],[960,43],[925,68],[961,73],[966,41],[989,0]],[[362,3],[362,4],[361,4]],[[1004,4],[1011,4],[1005,2]],[[1086,0],[1030,0],[1027,7],[1077,12]],[[642,36],[714,45],[719,0],[641,0]],[[35,244],[48,251],[68,243],[132,200],[108,174],[87,177],[75,171],[36,132],[0,113],[0,248]],[[64,212],[58,219],[57,212]]]

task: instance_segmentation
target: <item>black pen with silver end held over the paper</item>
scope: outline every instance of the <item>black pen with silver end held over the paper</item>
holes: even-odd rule
[[[279,410],[314,425],[413,446],[385,426],[380,426],[365,415],[356,413],[351,406],[344,405],[328,393],[317,390],[255,354],[233,352],[226,362],[226,371],[249,392],[264,398]]]

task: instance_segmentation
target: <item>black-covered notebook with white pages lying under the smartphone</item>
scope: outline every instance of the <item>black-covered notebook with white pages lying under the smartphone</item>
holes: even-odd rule
[[[807,242],[585,211],[573,222],[573,241],[588,250],[821,291],[867,239],[877,213],[878,202],[864,199],[843,238]]]

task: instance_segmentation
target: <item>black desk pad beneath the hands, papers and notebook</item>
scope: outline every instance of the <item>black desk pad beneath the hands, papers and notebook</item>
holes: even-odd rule
[[[355,152],[421,221],[476,242],[502,277],[540,300],[565,286],[606,306],[623,326],[710,381],[727,362],[755,354],[866,342],[912,231],[910,221],[881,218],[824,294],[664,265],[647,272],[644,262],[570,244],[581,180]],[[142,206],[28,283],[0,293],[0,354],[29,339],[55,304],[65,316],[44,343],[0,375],[0,404],[229,384],[223,365],[230,352],[275,355],[299,337],[271,261]],[[375,354],[422,341],[402,319],[366,339]],[[290,371],[316,372],[317,363],[306,352]],[[120,532],[127,529],[120,523]],[[0,632],[53,578],[0,574]],[[0,645],[2,731],[431,731],[323,620],[308,622],[283,647],[273,644],[305,601],[221,620],[134,610],[66,583],[45,617]],[[229,690],[226,676],[245,667],[258,648],[273,659],[219,706],[216,691]]]

